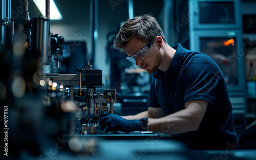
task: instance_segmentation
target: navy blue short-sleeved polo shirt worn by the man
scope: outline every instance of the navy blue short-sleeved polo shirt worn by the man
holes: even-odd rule
[[[198,130],[179,134],[175,139],[194,149],[230,149],[237,145],[232,106],[225,78],[217,64],[201,52],[180,44],[168,70],[157,70],[151,83],[148,106],[162,108],[165,115],[185,109],[185,103],[202,99],[208,106]]]

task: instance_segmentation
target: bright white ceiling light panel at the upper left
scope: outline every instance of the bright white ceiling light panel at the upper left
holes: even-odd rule
[[[46,16],[46,1],[42,0],[33,0],[38,10],[43,16]],[[60,20],[62,16],[55,5],[53,0],[50,0],[50,20]]]

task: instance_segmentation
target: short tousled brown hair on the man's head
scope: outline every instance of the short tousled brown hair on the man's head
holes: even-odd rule
[[[158,24],[156,18],[151,15],[145,14],[142,16],[136,16],[132,19],[128,19],[118,32],[115,41],[114,48],[123,51],[123,47],[128,43],[132,37],[136,37],[138,40],[150,42],[159,33],[163,41],[166,43],[163,31]]]

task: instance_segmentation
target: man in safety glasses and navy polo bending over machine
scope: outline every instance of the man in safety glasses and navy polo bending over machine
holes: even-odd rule
[[[99,123],[102,130],[163,132],[177,135],[174,139],[194,149],[237,145],[225,79],[210,57],[180,44],[170,47],[150,15],[128,19],[114,47],[154,77],[148,110],[134,116],[105,116]]]

